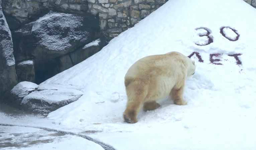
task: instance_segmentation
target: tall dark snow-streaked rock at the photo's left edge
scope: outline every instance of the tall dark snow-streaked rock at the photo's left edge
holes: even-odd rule
[[[12,35],[4,17],[0,0],[0,101],[2,94],[17,84]]]

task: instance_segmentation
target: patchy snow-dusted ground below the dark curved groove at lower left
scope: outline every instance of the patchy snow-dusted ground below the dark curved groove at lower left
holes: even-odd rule
[[[1,150],[104,150],[83,137],[31,127],[0,125]]]

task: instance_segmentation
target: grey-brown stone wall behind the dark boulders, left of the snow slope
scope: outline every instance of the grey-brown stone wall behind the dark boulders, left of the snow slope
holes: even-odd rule
[[[44,11],[90,13],[99,16],[100,28],[112,39],[155,11],[166,0],[3,0],[10,28],[31,22]]]

